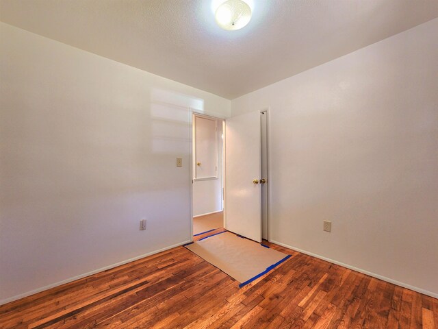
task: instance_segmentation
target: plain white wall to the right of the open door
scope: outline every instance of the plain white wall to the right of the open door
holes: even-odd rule
[[[437,36],[435,19],[231,102],[270,107],[272,241],[438,296]]]

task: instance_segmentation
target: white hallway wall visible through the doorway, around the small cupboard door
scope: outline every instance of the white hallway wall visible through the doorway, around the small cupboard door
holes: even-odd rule
[[[222,206],[222,120],[218,119],[218,178],[193,181],[193,216],[223,210]],[[194,161],[196,164],[196,160]]]

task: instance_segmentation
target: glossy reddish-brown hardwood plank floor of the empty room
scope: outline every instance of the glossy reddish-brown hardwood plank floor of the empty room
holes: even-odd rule
[[[438,329],[437,299],[271,246],[293,256],[242,289],[177,247],[0,306],[0,328]]]

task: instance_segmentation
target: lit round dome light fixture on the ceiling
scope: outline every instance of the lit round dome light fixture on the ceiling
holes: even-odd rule
[[[216,10],[216,23],[222,29],[242,29],[251,19],[251,8],[242,0],[227,0]]]

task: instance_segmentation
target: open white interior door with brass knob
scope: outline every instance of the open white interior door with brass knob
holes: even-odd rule
[[[227,230],[261,242],[260,112],[227,119],[225,132]]]

